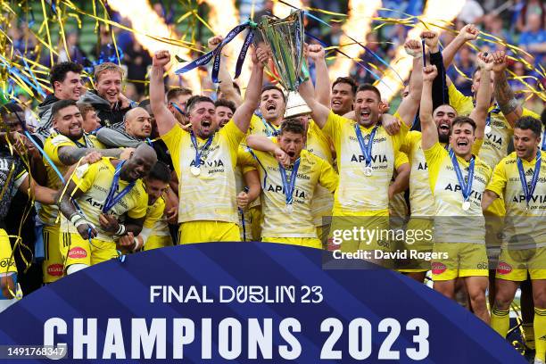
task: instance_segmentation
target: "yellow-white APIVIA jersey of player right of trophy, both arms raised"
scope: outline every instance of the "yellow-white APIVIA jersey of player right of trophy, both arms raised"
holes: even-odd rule
[[[397,114],[395,116],[398,117]],[[333,215],[374,216],[388,215],[388,188],[393,177],[395,160],[401,158],[400,147],[409,130],[401,123],[401,132],[389,136],[385,128],[379,127],[372,145],[371,167],[373,174],[366,176],[366,159],[360,150],[355,132],[356,121],[335,115],[330,111],[322,131],[334,142],[340,182],[335,191]],[[367,142],[372,129],[360,126]]]

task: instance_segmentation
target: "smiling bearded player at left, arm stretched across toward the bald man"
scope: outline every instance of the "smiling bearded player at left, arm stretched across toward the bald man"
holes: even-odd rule
[[[54,134],[45,139],[44,157],[47,184],[55,190],[63,187],[57,175],[58,170],[65,176],[70,166],[89,153],[98,152],[102,156],[127,158],[130,150],[122,154],[122,149],[97,149],[95,136],[88,136],[83,129],[83,118],[73,100],[61,100],[52,106]],[[49,160],[53,162],[53,165]],[[44,224],[45,259],[42,265],[44,283],[52,283],[62,277],[62,254],[59,242],[58,208],[56,205],[41,205],[38,218]]]

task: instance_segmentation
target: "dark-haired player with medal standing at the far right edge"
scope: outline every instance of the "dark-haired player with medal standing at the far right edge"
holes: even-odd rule
[[[516,121],[516,152],[502,159],[487,186],[484,209],[504,196],[506,223],[496,274],[491,326],[503,337],[509,330],[509,306],[520,282],[531,276],[534,301],[535,363],[546,352],[546,152],[540,148],[540,120],[525,116]]]

